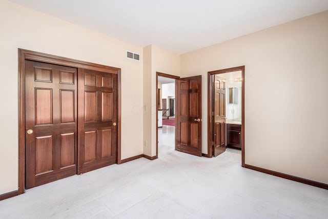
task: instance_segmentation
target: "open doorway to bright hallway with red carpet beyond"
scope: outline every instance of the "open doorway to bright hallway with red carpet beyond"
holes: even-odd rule
[[[175,150],[176,139],[176,83],[179,77],[157,72],[157,146],[158,154],[164,156]]]

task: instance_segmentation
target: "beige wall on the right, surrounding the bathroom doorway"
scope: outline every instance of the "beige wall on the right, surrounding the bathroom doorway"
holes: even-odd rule
[[[245,163],[328,183],[328,11],[181,55],[181,77],[245,66]]]

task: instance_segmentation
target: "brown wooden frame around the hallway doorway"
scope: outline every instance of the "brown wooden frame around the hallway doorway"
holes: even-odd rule
[[[178,104],[177,104],[177,101],[176,101],[176,98],[177,98],[177,88],[178,88],[178,81],[180,79],[179,76],[175,76],[175,75],[172,75],[172,74],[166,74],[166,73],[161,73],[161,72],[157,72],[156,71],[156,91],[158,90],[158,76],[161,76],[161,77],[169,77],[169,78],[172,78],[174,79],[175,81],[175,112],[177,112],[178,110]],[[158,103],[158,95],[156,95],[156,103]],[[174,126],[174,135],[175,135],[175,139],[174,139],[174,150],[176,150],[176,138],[177,138],[177,133],[176,133],[176,124]],[[158,104],[156,104],[156,158],[158,158]]]

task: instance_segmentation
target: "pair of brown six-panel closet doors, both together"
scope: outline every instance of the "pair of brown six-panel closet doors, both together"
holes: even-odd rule
[[[26,189],[117,162],[117,74],[25,61]]]

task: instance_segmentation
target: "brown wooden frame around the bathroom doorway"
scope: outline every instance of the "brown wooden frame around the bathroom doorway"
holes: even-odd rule
[[[241,166],[245,167],[245,66],[238,66],[233,68],[226,68],[221,70],[209,71],[208,72],[208,154],[203,156],[212,157],[212,90],[213,83],[211,76],[214,74],[229,73],[234,71],[241,71]]]

